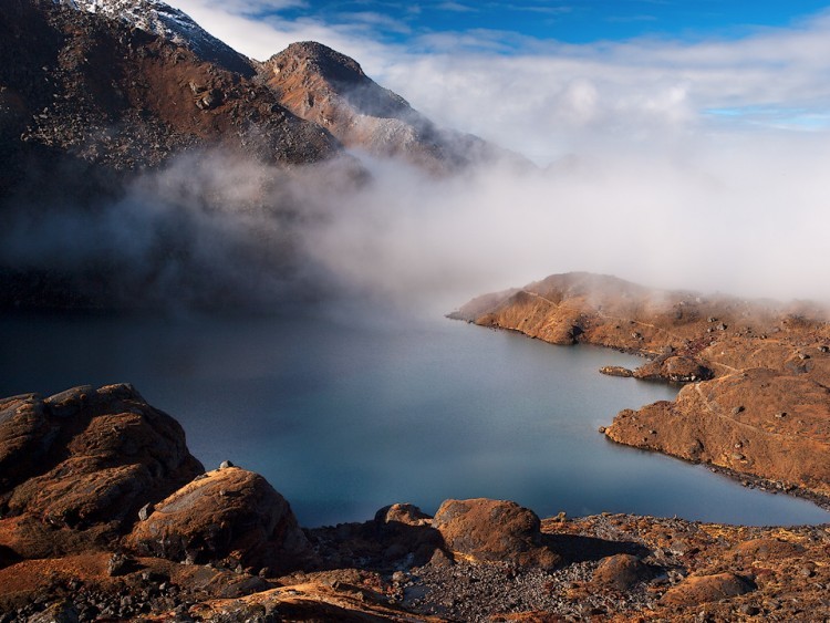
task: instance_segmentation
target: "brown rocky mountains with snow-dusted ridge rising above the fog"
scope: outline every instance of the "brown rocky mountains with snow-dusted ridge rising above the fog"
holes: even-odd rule
[[[134,170],[222,145],[308,164],[342,142],[454,168],[496,152],[437,129],[319,43],[257,63],[158,0],[7,0],[0,35],[3,195],[32,159]]]

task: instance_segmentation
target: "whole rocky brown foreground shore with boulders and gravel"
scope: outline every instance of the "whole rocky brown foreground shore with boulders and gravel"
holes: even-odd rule
[[[301,529],[129,385],[0,399],[0,621],[820,621],[828,526],[509,501]],[[702,614],[703,613],[703,614]],[[817,619],[818,617],[818,619]]]

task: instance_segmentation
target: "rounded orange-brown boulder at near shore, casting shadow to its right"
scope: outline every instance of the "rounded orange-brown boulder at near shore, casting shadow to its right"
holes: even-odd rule
[[[544,543],[539,517],[516,502],[446,500],[433,519],[456,558],[552,569],[561,557]]]

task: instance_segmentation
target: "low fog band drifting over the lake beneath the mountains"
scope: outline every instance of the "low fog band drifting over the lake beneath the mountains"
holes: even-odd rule
[[[797,138],[598,150],[445,179],[363,157],[372,177],[357,187],[332,183],[331,166],[288,176],[188,156],[103,214],[24,211],[0,248],[18,267],[114,267],[116,295],[173,305],[228,295],[268,305],[299,287],[448,311],[570,270],[821,299],[830,145]]]

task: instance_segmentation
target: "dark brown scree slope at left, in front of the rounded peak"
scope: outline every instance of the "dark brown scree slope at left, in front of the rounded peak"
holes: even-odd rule
[[[110,19],[103,9],[7,4],[0,15],[3,164],[18,164],[19,175],[32,158],[58,170],[74,160],[83,170],[123,172],[215,145],[286,164],[340,153],[326,131],[252,81],[247,62],[236,63],[241,72],[210,62],[195,52],[198,40],[185,45],[179,37]]]

